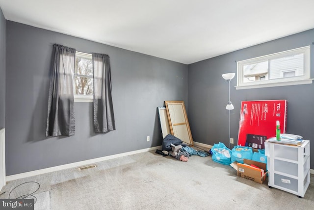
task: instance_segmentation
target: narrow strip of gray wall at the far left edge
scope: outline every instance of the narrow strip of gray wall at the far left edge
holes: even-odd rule
[[[0,8],[0,129],[5,127],[5,19]]]

